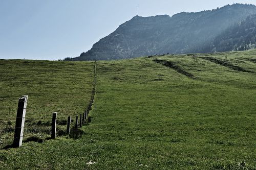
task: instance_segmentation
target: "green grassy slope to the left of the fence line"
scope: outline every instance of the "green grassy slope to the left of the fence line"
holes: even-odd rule
[[[24,94],[29,95],[25,140],[50,134],[52,112],[58,112],[58,124],[83,113],[91,97],[93,66],[93,62],[0,60],[0,131],[15,126],[17,101]],[[0,148],[12,142],[13,133],[0,135]]]

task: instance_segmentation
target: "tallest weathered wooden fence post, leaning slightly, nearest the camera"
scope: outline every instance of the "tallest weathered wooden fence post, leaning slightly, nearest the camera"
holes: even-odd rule
[[[24,95],[18,100],[13,147],[21,147],[24,134],[25,116],[27,109],[28,95]]]

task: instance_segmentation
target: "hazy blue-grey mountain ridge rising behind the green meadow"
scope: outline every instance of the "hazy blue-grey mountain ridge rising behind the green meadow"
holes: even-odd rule
[[[91,50],[72,60],[114,60],[163,53],[231,50],[232,45],[223,47],[225,43],[222,42],[222,37],[233,30],[229,34],[236,37],[232,40],[237,40],[239,34],[234,34],[236,29],[231,27],[238,27],[238,23],[241,26],[243,20],[253,14],[256,14],[256,6],[234,4],[210,11],[182,12],[172,17],[135,16],[100,39]]]

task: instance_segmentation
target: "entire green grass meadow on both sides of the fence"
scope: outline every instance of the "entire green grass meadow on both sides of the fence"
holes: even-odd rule
[[[82,137],[0,150],[0,169],[256,169],[255,58],[252,50],[97,61]],[[33,121],[82,112],[93,64],[0,60],[1,116],[23,94]]]

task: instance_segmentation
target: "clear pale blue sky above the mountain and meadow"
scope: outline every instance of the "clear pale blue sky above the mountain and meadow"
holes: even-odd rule
[[[0,59],[57,60],[90,50],[136,15],[174,15],[256,0],[0,0]]]

